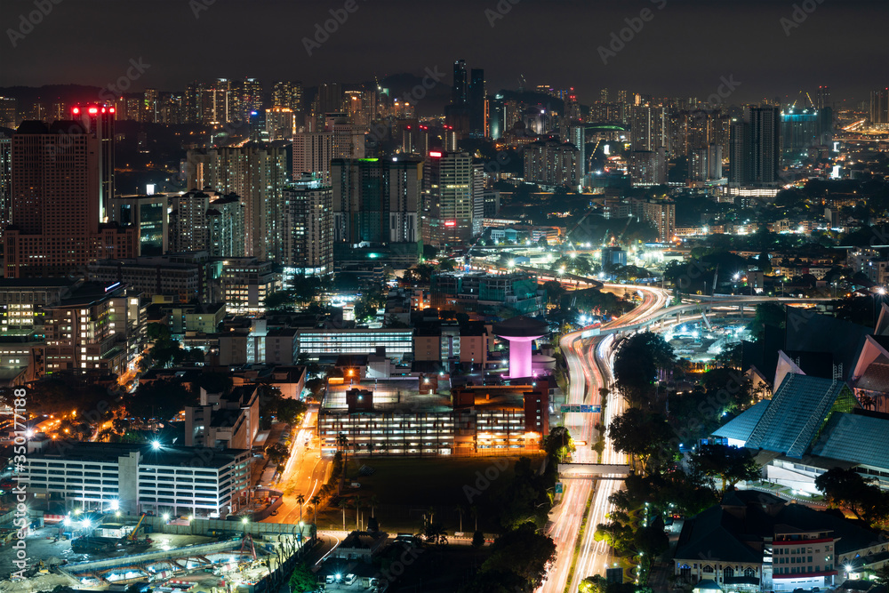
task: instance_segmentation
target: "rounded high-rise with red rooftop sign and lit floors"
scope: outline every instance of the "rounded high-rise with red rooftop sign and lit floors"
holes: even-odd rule
[[[465,244],[485,214],[481,165],[465,152],[432,150],[423,165],[423,244]]]

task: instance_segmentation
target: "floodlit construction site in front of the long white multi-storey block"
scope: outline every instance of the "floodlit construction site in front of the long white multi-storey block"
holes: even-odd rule
[[[135,583],[162,591],[252,592],[280,584],[314,542],[312,525],[116,515],[43,523],[25,540],[26,578],[3,574],[0,592]],[[12,567],[15,554],[4,545],[0,565]]]

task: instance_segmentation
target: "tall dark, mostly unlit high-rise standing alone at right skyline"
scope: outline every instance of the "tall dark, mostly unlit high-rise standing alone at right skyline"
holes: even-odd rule
[[[780,109],[767,105],[745,109],[743,121],[733,122],[729,152],[733,185],[774,187],[781,167]]]

